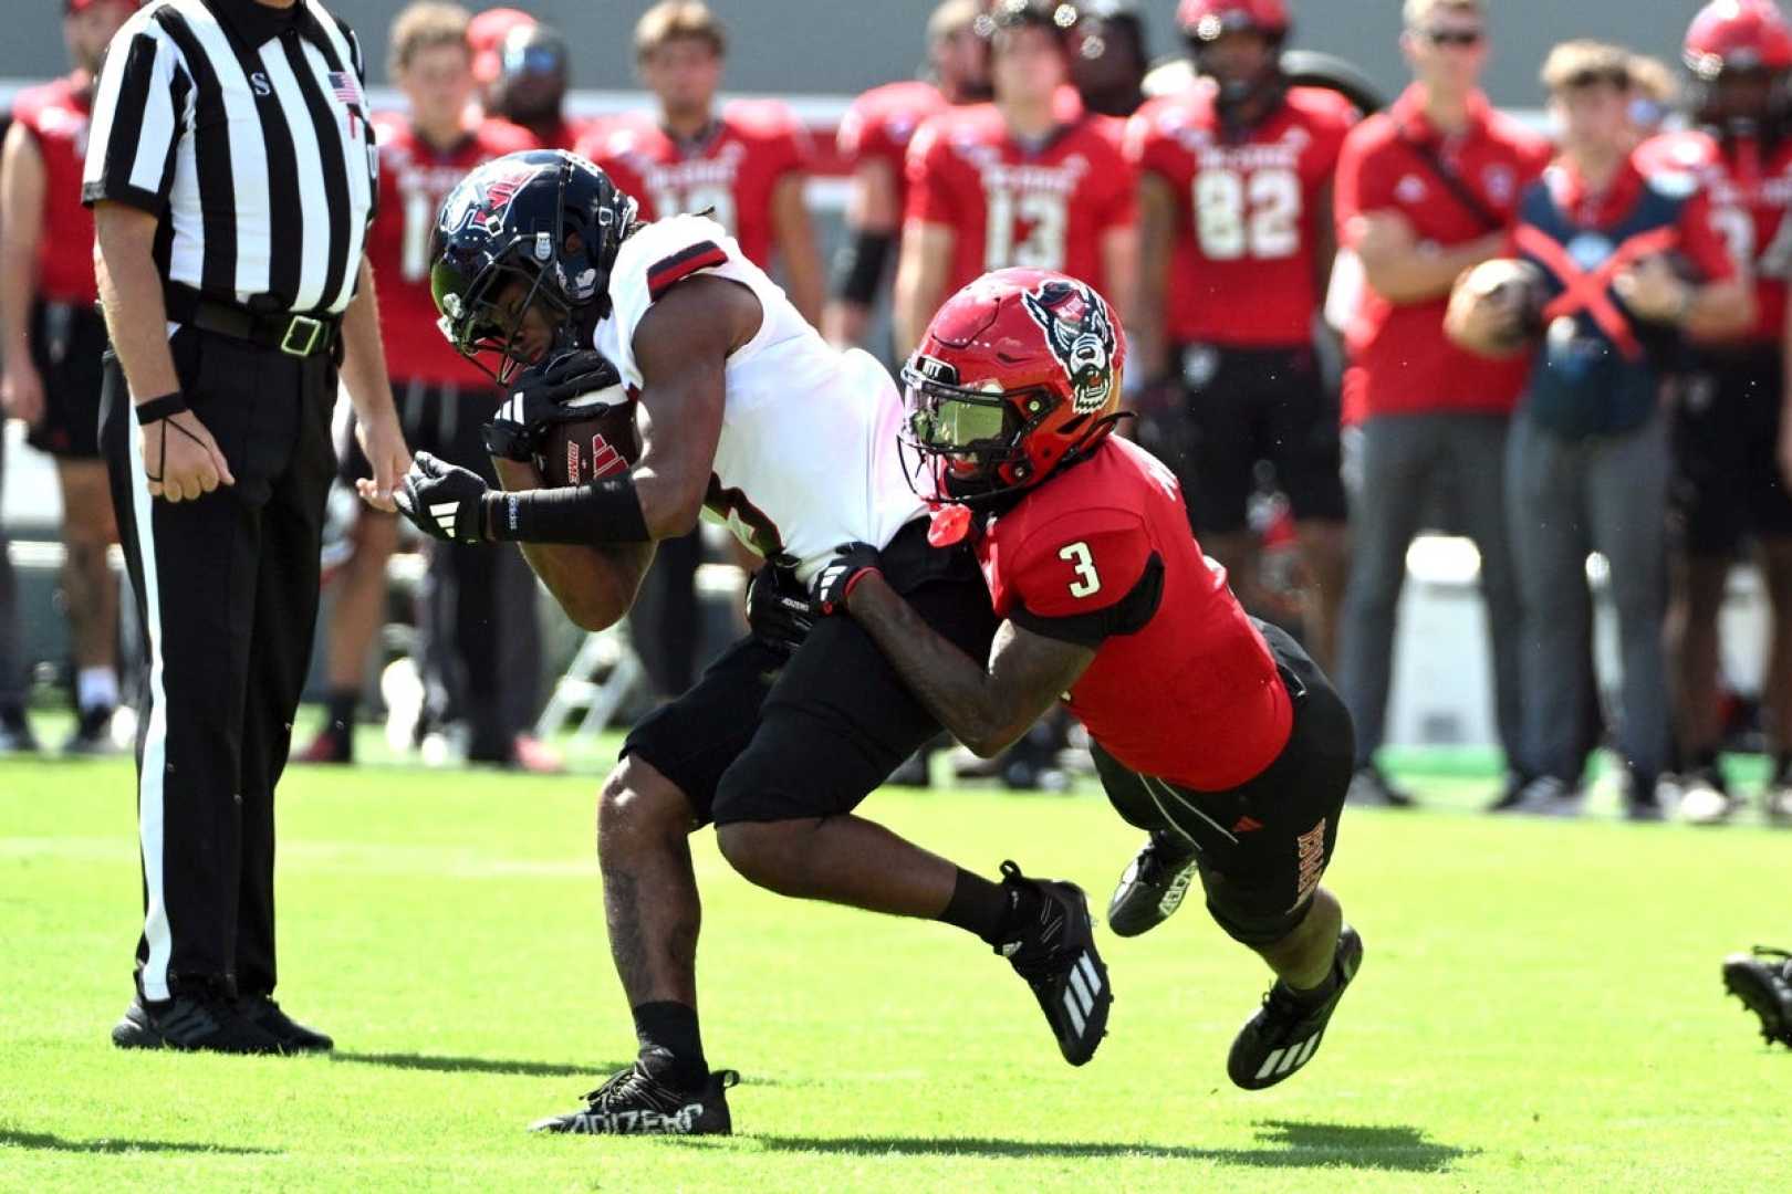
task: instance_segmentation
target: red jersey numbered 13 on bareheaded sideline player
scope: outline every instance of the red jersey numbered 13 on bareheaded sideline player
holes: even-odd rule
[[[995,104],[921,125],[909,145],[905,222],[955,233],[944,294],[1011,265],[1061,270],[1109,292],[1102,235],[1129,227],[1138,209],[1120,127],[1084,115],[1029,150],[1009,136]]]

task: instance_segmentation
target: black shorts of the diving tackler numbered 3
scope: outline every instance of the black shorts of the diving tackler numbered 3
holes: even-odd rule
[[[1140,775],[1091,743],[1107,798],[1129,823],[1195,845],[1208,913],[1245,945],[1288,936],[1331,863],[1355,766],[1349,711],[1283,630],[1256,621],[1294,702],[1294,727],[1262,775],[1228,791],[1195,791]]]

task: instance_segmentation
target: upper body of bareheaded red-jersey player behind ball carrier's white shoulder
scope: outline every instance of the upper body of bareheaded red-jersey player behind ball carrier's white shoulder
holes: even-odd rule
[[[708,211],[767,270],[776,249],[785,292],[819,324],[821,251],[803,204],[808,134],[769,100],[717,113],[726,52],[722,25],[704,5],[649,9],[634,27],[634,57],[659,111],[609,122],[579,152],[636,197],[643,220]]]

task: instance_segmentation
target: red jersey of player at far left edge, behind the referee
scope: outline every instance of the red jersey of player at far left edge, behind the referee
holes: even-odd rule
[[[43,231],[38,240],[38,297],[91,304],[93,211],[81,204],[88,158],[88,100],[73,77],[27,88],[13,100],[13,120],[30,131],[43,156]]]

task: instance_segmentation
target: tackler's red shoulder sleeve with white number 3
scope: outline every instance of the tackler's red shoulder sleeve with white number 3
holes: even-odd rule
[[[1142,630],[1163,596],[1163,560],[1145,526],[1115,510],[1055,519],[1004,564],[1009,619],[1082,646]]]

